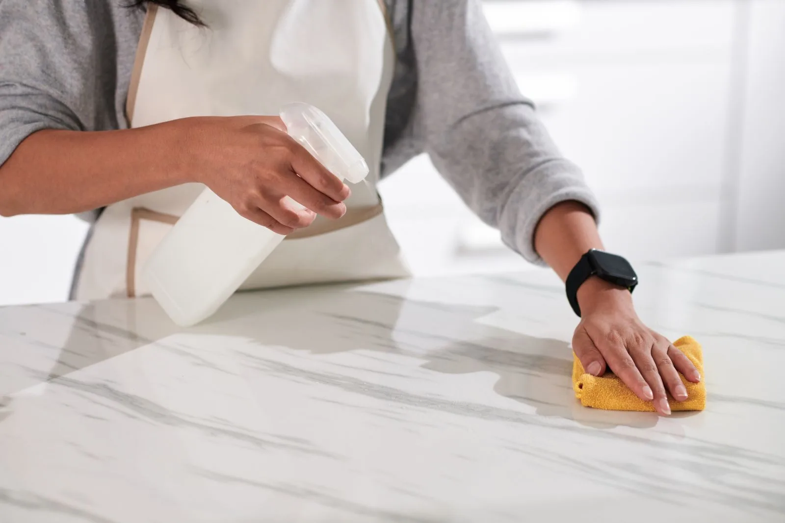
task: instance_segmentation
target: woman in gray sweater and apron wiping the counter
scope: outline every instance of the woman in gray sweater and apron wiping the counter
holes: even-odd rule
[[[289,234],[244,288],[405,274],[375,183],[425,151],[511,248],[567,281],[588,372],[609,366],[663,415],[666,390],[687,396],[677,370],[700,379],[637,318],[631,268],[590,251],[593,195],[476,0],[135,4],[0,0],[0,213],[97,218],[75,297],[144,294],[138,267],[202,184]],[[269,116],[295,100],[334,119],[367,184],[350,190]]]

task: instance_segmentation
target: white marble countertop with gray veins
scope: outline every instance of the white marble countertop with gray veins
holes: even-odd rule
[[[0,521],[785,521],[785,252],[639,264],[707,410],[582,408],[547,272],[0,308]]]

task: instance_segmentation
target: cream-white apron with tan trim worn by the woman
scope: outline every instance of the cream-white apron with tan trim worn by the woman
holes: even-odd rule
[[[409,275],[376,192],[392,36],[377,0],[189,0],[208,25],[151,7],[126,107],[130,126],[190,116],[276,115],[319,107],[366,159],[341,220],[295,231],[241,289]],[[144,151],[138,151],[144,154]],[[142,267],[194,202],[188,183],[109,205],[93,228],[75,299],[143,296]]]

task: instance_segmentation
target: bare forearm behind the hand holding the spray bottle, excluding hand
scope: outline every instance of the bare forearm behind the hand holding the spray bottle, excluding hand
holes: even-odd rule
[[[185,183],[183,136],[176,122],[33,133],[0,166],[0,214],[89,211]]]

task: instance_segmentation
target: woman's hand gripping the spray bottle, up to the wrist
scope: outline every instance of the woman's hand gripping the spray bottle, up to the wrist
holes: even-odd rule
[[[286,133],[277,116],[183,118],[185,162],[248,220],[278,233],[307,227],[316,214],[340,218],[349,187]],[[298,205],[301,204],[301,205]]]

